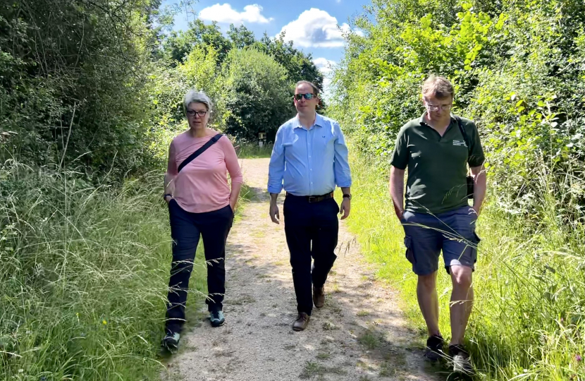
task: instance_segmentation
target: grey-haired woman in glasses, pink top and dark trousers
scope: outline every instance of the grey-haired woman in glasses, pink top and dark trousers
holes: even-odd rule
[[[232,143],[226,136],[207,128],[212,107],[209,97],[203,92],[187,92],[183,106],[189,129],[173,139],[164,176],[164,200],[168,203],[173,237],[166,336],[163,339],[163,345],[170,350],[178,348],[185,322],[187,289],[199,235],[203,238],[207,262],[209,295],[205,302],[211,325],[223,325],[226,239],[242,188],[242,172]],[[197,151],[200,155],[193,158]],[[230,173],[231,188],[227,172]]]

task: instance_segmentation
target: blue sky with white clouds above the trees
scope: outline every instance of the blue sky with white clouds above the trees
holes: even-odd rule
[[[179,0],[163,3],[171,4],[179,4]],[[312,54],[316,66],[327,75],[331,65],[343,58],[344,42],[338,26],[350,30],[350,20],[368,4],[369,0],[200,0],[192,4],[197,15],[183,12],[176,16],[175,29],[186,29],[187,21],[198,17],[205,23],[217,21],[224,33],[230,23],[243,24],[257,39],[264,32],[275,37],[285,30],[285,40],[293,40],[297,49]]]

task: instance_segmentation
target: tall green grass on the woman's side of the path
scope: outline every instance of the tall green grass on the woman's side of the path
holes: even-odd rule
[[[94,187],[11,164],[0,177],[0,380],[156,379],[171,265],[161,175]],[[191,289],[206,292],[197,257]]]

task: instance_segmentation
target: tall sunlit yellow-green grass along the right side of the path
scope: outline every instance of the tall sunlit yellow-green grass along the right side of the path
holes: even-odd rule
[[[379,164],[352,157],[354,198],[347,222],[367,259],[377,264],[378,277],[400,291],[402,308],[423,345],[426,327],[417,304],[417,278],[405,259],[404,231],[388,196],[387,170]],[[538,218],[507,213],[491,194],[477,223],[482,241],[466,334],[480,371],[476,378],[583,381],[584,225],[582,220],[560,222],[550,193],[555,181],[546,171],[530,186],[538,194]],[[450,278],[440,270],[440,327],[447,336],[450,290]]]

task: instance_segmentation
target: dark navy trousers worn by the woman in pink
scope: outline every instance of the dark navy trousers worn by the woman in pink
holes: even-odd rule
[[[226,294],[226,240],[232,227],[233,212],[227,205],[212,212],[191,213],[183,210],[176,200],[171,200],[168,203],[168,214],[173,237],[173,262],[168,282],[166,328],[171,332],[180,332],[185,322],[187,290],[199,236],[203,238],[207,262],[209,294],[205,303],[210,311],[223,308],[223,294]]]

